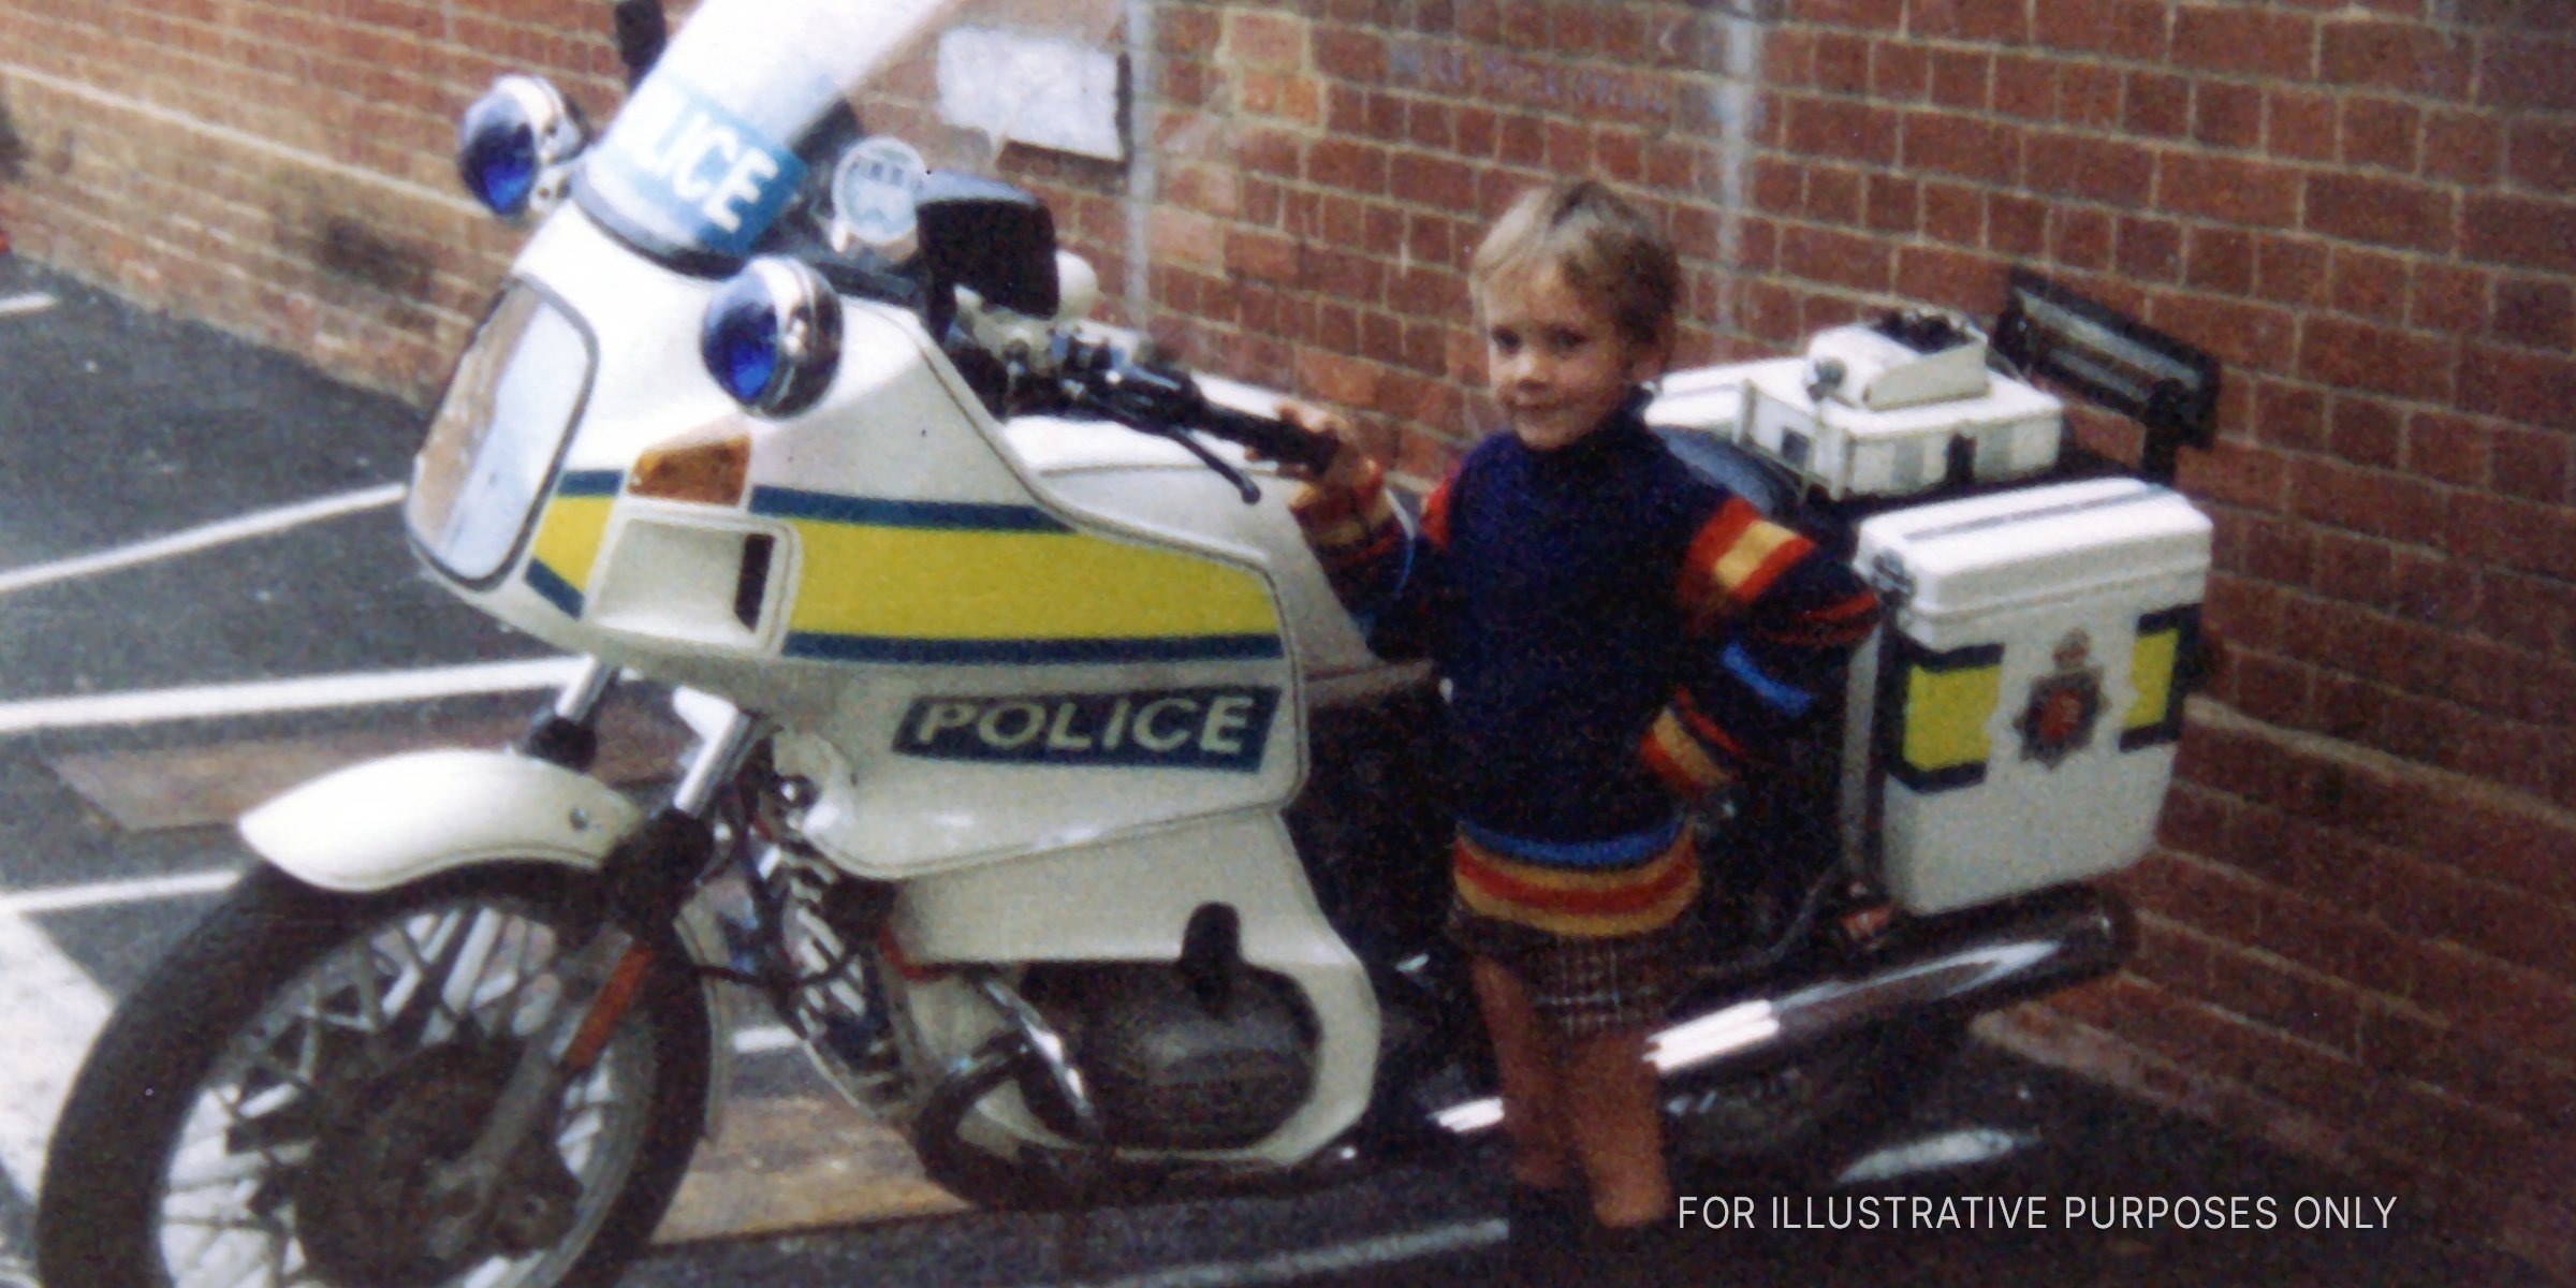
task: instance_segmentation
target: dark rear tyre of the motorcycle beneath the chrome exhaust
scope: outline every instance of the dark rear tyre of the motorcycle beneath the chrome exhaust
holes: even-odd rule
[[[1829,1182],[1904,1123],[1963,1041],[1950,1020],[1896,1023],[1752,1074],[1667,1087],[1674,1172]]]

